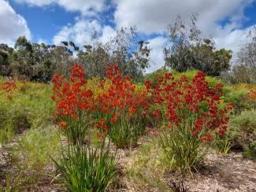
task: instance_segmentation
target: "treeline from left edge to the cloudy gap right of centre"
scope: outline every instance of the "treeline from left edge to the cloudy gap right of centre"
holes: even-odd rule
[[[105,43],[94,33],[91,35],[91,45],[80,48],[72,41],[46,45],[30,42],[21,36],[13,48],[0,44],[1,75],[48,82],[54,73],[68,75],[70,66],[79,63],[85,66],[88,78],[104,77],[106,66],[113,62],[124,75],[139,80],[149,65],[150,49],[147,42],[135,44],[137,37],[134,27],[121,28],[115,37]]]

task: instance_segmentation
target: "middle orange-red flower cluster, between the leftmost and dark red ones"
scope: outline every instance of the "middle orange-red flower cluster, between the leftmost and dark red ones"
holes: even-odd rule
[[[128,76],[121,75],[117,65],[109,65],[106,74],[106,80],[99,83],[106,90],[98,94],[98,109],[110,116],[112,123],[146,109],[147,92],[135,93],[135,84]]]

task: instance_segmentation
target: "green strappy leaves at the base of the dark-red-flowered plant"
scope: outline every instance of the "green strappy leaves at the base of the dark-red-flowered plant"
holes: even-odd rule
[[[181,175],[197,171],[208,149],[202,147],[202,142],[192,135],[190,127],[191,124],[182,124],[163,130],[159,139],[159,145],[165,151],[170,168]]]

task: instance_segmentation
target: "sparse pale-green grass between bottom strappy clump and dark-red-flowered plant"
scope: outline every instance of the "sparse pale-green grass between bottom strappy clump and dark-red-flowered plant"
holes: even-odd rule
[[[150,138],[129,156],[132,161],[126,164],[125,174],[132,188],[138,191],[169,191],[164,178],[170,164],[165,153],[158,147],[157,138]]]

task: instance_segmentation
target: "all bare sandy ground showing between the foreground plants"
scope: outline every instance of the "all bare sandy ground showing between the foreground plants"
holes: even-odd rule
[[[118,152],[119,166],[124,169],[125,163],[129,161],[126,150]],[[9,164],[8,153],[0,146],[0,181],[5,183],[4,175],[13,169]],[[51,172],[54,172],[51,170]],[[122,175],[123,174],[123,175]],[[124,173],[121,173],[124,177]],[[170,178],[165,178],[168,181]],[[125,180],[125,179],[124,179]],[[206,157],[205,168],[196,173],[193,178],[187,178],[185,186],[188,191],[255,191],[256,192],[256,162],[244,159],[241,153],[228,153],[223,156],[210,153]],[[52,179],[46,178],[34,191],[56,191],[59,186]],[[120,189],[115,191],[139,191],[131,187],[130,183],[123,183]],[[158,191],[154,189],[141,191]],[[171,191],[171,190],[166,190]]]

